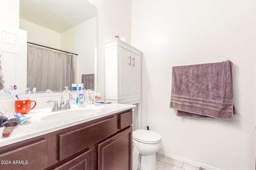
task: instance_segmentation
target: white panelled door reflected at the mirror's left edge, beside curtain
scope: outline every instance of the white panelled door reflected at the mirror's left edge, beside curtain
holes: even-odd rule
[[[0,54],[5,88],[16,84],[25,91],[27,84],[27,31],[0,24]]]

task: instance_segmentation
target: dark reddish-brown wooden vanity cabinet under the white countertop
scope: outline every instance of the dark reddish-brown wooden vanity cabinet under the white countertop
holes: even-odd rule
[[[0,147],[4,170],[132,170],[132,109]]]

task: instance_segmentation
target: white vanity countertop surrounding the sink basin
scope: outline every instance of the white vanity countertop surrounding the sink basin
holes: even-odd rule
[[[70,110],[76,111],[76,110],[83,109],[83,107],[77,107],[77,106],[71,106],[71,107],[72,107],[71,109],[68,109],[66,111],[70,111]],[[16,143],[19,141],[23,141],[26,139],[30,139],[33,137],[37,137],[40,135],[44,135],[47,133],[51,133],[54,131],[58,131],[66,127],[71,127],[74,125],[78,125],[80,123],[98,119],[100,117],[118,113],[120,111],[134,108],[136,106],[128,105],[128,104],[112,103],[112,104],[103,104],[101,106],[87,105],[86,107],[102,109],[102,110],[94,114],[85,114],[82,117],[62,119],[62,117],[60,116],[59,119],[51,119],[51,120],[43,120],[43,118],[48,115],[58,113],[58,111],[52,112],[51,108],[31,110],[29,113],[24,115],[26,117],[30,117],[30,119],[22,124],[17,125],[11,136],[2,137],[2,135],[0,135],[0,147],[5,145],[10,145],[12,143]],[[5,127],[0,127],[0,132],[2,133],[4,129]]]

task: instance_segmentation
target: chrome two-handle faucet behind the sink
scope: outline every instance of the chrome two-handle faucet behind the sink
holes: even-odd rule
[[[58,106],[58,102],[57,101],[49,100],[47,102],[47,103],[54,102],[54,106],[52,107],[52,111],[66,110],[66,109],[70,109],[71,108],[69,101],[70,100],[75,100],[75,99],[72,97],[72,94],[68,90],[68,87],[66,86],[64,88],[66,88],[66,89],[61,94],[60,106]],[[69,99],[67,100],[66,105],[65,105],[64,104],[64,95],[65,95],[66,92],[68,92],[68,94],[69,94]]]

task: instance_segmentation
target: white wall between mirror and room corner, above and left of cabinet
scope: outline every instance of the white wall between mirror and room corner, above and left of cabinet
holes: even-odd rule
[[[92,4],[98,8],[98,92],[105,98],[104,41],[119,34],[131,43],[131,0],[93,0]]]

